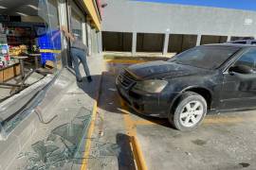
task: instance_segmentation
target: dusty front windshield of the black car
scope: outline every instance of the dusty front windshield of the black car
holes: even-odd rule
[[[169,61],[204,69],[216,69],[239,49],[232,46],[197,46]]]

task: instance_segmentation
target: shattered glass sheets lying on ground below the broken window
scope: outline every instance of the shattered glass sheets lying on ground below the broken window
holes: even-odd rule
[[[67,163],[82,164],[84,159],[118,157],[120,152],[118,144],[104,144],[99,141],[91,148],[89,157],[83,157],[84,139],[87,136],[90,120],[91,111],[81,108],[70,123],[55,127],[45,140],[32,144],[31,152],[20,153],[18,159],[26,159],[26,165],[21,169],[60,169]]]

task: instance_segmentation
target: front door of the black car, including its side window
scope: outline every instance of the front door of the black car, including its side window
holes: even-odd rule
[[[235,66],[249,67],[252,72],[231,71]],[[249,48],[224,73],[221,93],[221,109],[256,108],[256,48]]]

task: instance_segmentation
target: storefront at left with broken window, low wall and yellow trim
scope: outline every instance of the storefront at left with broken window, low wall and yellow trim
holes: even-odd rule
[[[96,0],[1,1],[0,169],[13,169],[10,166],[18,153],[39,128],[38,118],[32,114],[34,110],[39,105],[41,111],[55,107],[54,102],[59,100],[57,96],[62,93],[62,88],[72,82],[72,78],[68,78],[70,69],[63,69],[72,67],[70,42],[64,38],[60,27],[66,26],[69,32],[78,34],[88,45],[92,57],[100,52],[100,7],[100,1]],[[37,66],[35,57],[41,62]],[[26,60],[21,62],[21,59]],[[46,64],[48,61],[49,65]],[[21,70],[24,70],[24,76],[20,74]],[[25,83],[26,77],[33,73],[39,78]],[[59,86],[56,79],[64,73]],[[49,103],[52,106],[48,106]],[[44,113],[46,117],[49,116],[47,112]]]

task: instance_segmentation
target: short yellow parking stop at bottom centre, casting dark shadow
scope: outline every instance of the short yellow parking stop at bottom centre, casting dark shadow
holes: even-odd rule
[[[144,160],[142,150],[138,144],[137,138],[135,136],[131,136],[131,144],[133,146],[133,153],[137,163],[138,170],[147,170],[147,164]]]

